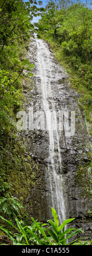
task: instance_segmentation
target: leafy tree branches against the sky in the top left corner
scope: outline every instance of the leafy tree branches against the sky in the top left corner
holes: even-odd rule
[[[26,3],[22,0],[6,0],[1,2],[0,44],[2,49],[4,45],[8,45],[16,39],[14,38],[15,34],[19,36],[19,33],[23,32],[23,36],[28,36],[33,32],[34,26],[30,21],[33,19],[33,16],[40,15],[38,12],[42,10],[42,8],[37,8],[36,5],[35,0],[29,0]]]

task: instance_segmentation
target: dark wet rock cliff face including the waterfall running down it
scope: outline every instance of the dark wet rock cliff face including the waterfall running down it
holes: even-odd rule
[[[46,42],[33,39],[30,42],[28,56],[30,63],[35,66],[32,70],[33,88],[30,91],[26,88],[24,92],[26,97],[24,108],[25,111],[29,107],[31,111],[33,109],[34,120],[33,130],[23,132],[23,136],[26,139],[28,155],[36,163],[36,170],[34,186],[30,188],[26,209],[35,220],[46,221],[52,217],[52,206],[59,215],[59,221],[62,221],[63,217],[75,217],[73,227],[82,227],[85,231],[84,235],[91,236],[91,138],[84,112],[78,104],[79,94],[70,88],[68,74],[54,59]],[[51,112],[55,111],[57,118],[57,129],[51,127],[51,133],[47,129],[48,107]],[[40,121],[39,113],[44,113]],[[73,118],[71,113],[75,113],[73,121],[71,121]],[[32,117],[32,113],[30,115]],[[72,126],[74,121],[75,129]],[[71,134],[67,134],[68,122],[71,126]]]

